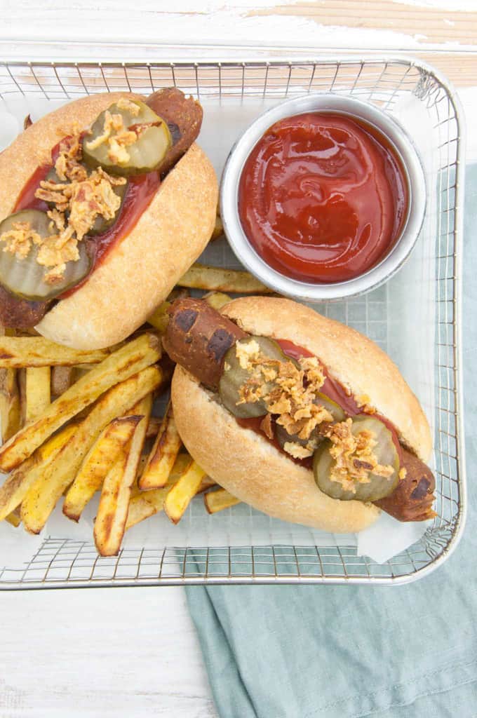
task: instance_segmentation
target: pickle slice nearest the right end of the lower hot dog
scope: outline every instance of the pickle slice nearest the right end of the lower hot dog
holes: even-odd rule
[[[331,498],[337,498],[341,501],[378,501],[385,496],[389,496],[394,491],[399,481],[399,456],[397,448],[394,444],[392,433],[382,421],[373,416],[356,416],[353,419],[351,427],[353,434],[362,431],[370,431],[374,433],[376,446],[373,451],[381,465],[391,465],[394,472],[389,477],[378,476],[371,473],[369,482],[363,483],[356,481],[356,492],[343,488],[341,482],[330,478],[331,470],[335,465],[335,460],[330,454],[331,442],[326,439],[323,444],[318,447],[313,456],[313,474],[315,482],[323,493]]]

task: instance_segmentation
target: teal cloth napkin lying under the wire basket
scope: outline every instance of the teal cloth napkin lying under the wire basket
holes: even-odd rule
[[[404,586],[187,588],[221,718],[477,717],[477,165],[466,185],[466,532]]]

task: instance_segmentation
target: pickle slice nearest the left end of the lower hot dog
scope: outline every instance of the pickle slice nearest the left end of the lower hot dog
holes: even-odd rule
[[[259,345],[261,352],[269,359],[277,359],[279,361],[286,361],[287,357],[284,355],[282,350],[279,348],[277,342],[269,339],[268,337],[246,337],[246,339],[238,340],[237,344],[248,344],[251,341],[256,341]],[[228,411],[237,416],[239,419],[250,419],[253,416],[265,416],[267,414],[267,407],[263,399],[259,401],[249,401],[246,404],[238,404],[240,401],[239,390],[246,381],[249,381],[251,373],[241,368],[236,356],[236,345],[233,345],[224,357],[224,370],[221,376],[221,381],[218,384],[218,393],[221,397],[223,406]],[[264,383],[264,393],[267,393],[272,388],[272,383]]]

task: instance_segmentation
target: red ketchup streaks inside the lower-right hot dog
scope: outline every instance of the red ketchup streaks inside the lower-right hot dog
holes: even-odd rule
[[[282,352],[292,359],[300,360],[302,357],[315,356],[307,349],[298,347],[296,344],[290,342],[287,339],[276,339],[275,341],[277,342],[277,344],[279,344],[280,348],[282,349]],[[363,414],[362,407],[356,403],[353,396],[350,396],[346,392],[346,389],[338,381],[335,381],[335,379],[329,376],[328,371],[323,366],[323,364],[321,364],[321,368],[323,369],[323,373],[325,374],[325,382],[323,383],[320,392],[325,394],[325,396],[328,396],[328,398],[330,398],[331,401],[334,401],[335,404],[341,406],[341,409],[343,409],[345,414],[347,414],[348,416],[356,416],[356,414]],[[391,432],[394,445],[396,446],[399,455],[399,461],[401,461],[402,448],[401,444],[399,444],[399,439],[395,427],[393,426],[391,421],[389,421],[389,419],[386,419],[384,416],[381,416],[381,414],[376,413],[372,414],[372,416],[375,416],[376,419],[382,421],[383,424],[386,425],[387,429],[389,429],[389,431]],[[261,421],[263,421],[263,418],[263,416],[254,416],[251,419],[236,419],[236,421],[238,421],[238,424],[240,424],[240,426],[244,426],[244,429],[252,429],[257,434],[261,434],[261,436],[264,437],[264,439],[267,439],[267,441],[269,441],[271,444],[273,444],[276,449],[284,453],[282,447],[280,447],[279,443],[277,442],[277,439],[269,439],[269,437],[267,437],[266,434],[264,434],[264,432],[261,430],[260,424]],[[286,455],[296,464],[305,466],[307,469],[310,469],[312,467],[313,457],[309,457],[307,459],[295,459],[294,457],[290,456],[290,454]]]

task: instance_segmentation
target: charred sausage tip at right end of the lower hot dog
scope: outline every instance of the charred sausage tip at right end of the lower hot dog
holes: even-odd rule
[[[393,493],[374,503],[398,521],[426,521],[432,518],[435,516],[432,510],[435,500],[432,471],[406,449],[402,449],[401,468],[406,470],[406,475],[399,480]]]

